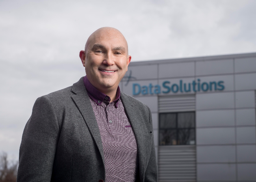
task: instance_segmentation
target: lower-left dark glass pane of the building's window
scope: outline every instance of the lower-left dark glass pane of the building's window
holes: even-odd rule
[[[177,145],[176,129],[160,129],[159,130],[159,145]]]

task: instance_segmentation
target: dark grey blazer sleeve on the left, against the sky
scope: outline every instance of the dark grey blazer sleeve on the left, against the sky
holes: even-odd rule
[[[22,134],[17,182],[50,182],[58,137],[52,102],[47,96],[39,97]]]

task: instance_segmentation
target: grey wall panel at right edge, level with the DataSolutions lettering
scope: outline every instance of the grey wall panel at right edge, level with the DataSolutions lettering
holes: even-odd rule
[[[236,75],[236,90],[256,89],[256,73]]]

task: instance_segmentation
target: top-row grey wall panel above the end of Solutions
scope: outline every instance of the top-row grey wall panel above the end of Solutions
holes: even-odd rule
[[[196,62],[197,75],[233,73],[233,60],[214,60]]]

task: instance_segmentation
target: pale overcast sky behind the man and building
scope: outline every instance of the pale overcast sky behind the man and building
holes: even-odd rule
[[[89,35],[114,27],[132,62],[256,52],[255,0],[0,0],[0,152],[18,159],[35,100],[85,75]]]

